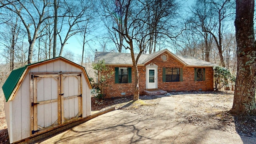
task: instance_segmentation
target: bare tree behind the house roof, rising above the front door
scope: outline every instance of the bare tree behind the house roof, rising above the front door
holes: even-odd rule
[[[148,14],[146,23],[148,23],[148,33],[150,33],[146,51],[151,54],[156,52],[156,45],[160,43],[161,38],[166,38],[161,32],[172,28],[171,21],[177,18],[179,6],[175,0],[145,0],[144,5]]]

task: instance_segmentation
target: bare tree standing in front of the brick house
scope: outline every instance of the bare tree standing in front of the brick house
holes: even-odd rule
[[[144,1],[133,1],[128,0],[125,4],[124,13],[124,32],[114,28],[118,33],[120,33],[125,42],[128,44],[126,49],[129,49],[132,57],[132,64],[134,70],[134,98],[133,100],[139,99],[139,75],[138,75],[138,60],[141,54],[144,52],[145,48],[150,42],[150,33],[148,30],[147,19],[150,17],[146,12]],[[152,15],[151,15],[152,16]],[[182,30],[183,31],[183,30]],[[182,32],[181,31],[181,32]],[[168,38],[174,38],[170,36],[169,31],[158,32],[159,34],[164,34]],[[177,36],[176,36],[177,37]]]

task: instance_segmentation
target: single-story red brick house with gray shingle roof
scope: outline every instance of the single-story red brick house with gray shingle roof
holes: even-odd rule
[[[135,54],[135,57],[138,54]],[[133,95],[134,70],[130,53],[97,52],[94,62],[104,60],[115,72],[104,88],[105,98]],[[146,90],[212,91],[214,64],[169,50],[142,54],[138,60],[140,95]]]

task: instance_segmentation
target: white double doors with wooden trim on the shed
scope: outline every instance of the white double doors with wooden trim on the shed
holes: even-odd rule
[[[32,134],[82,114],[81,74],[32,74]]]

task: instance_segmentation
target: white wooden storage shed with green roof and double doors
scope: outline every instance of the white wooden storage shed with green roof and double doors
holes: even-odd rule
[[[63,57],[13,70],[2,89],[10,143],[91,114],[86,70]]]

